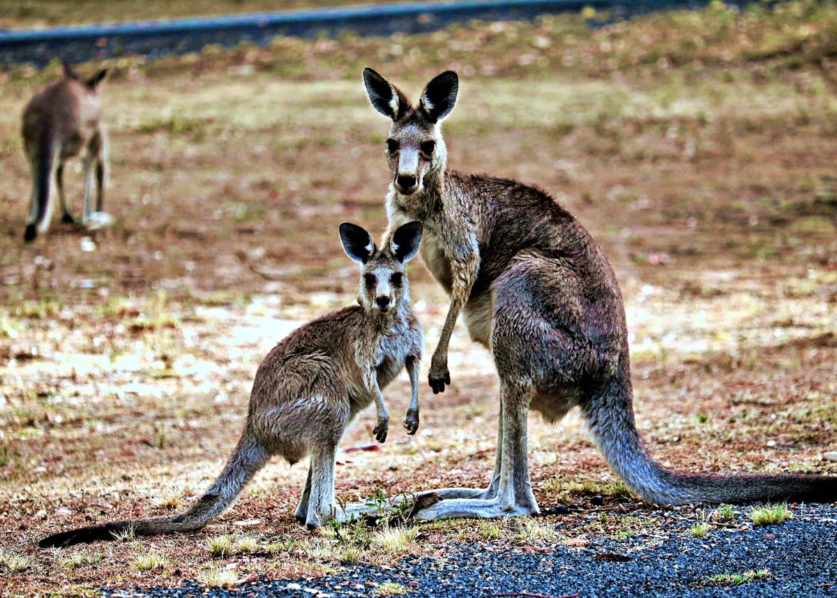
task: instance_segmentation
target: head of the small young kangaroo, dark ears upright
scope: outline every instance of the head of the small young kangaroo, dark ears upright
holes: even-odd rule
[[[404,264],[419,250],[421,234],[422,224],[409,222],[398,227],[388,244],[378,249],[372,236],[357,224],[344,222],[340,225],[343,249],[352,260],[361,264],[357,302],[367,312],[397,311],[403,299],[409,301]]]

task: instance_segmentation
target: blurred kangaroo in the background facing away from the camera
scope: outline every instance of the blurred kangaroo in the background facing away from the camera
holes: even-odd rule
[[[99,87],[107,73],[107,69],[102,69],[84,80],[72,66],[64,63],[63,76],[35,94],[23,109],[23,150],[32,173],[32,198],[23,235],[27,242],[49,229],[53,181],[61,200],[62,220],[69,224],[75,222],[64,198],[64,162],[71,157],[81,157],[85,168],[85,204],[80,224],[90,226],[110,221],[101,211],[108,170],[108,139],[100,120]]]

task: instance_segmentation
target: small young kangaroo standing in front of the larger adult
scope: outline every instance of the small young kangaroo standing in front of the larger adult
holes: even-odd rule
[[[422,225],[410,222],[377,249],[366,230],[340,225],[343,248],[360,262],[359,306],[330,313],[281,341],[256,372],[244,433],[226,467],[192,508],[172,517],[103,523],[54,534],[41,547],[113,539],[134,528],[139,535],[203,528],[234,502],[250,478],[273,455],[291,464],[311,456],[296,519],[309,529],[331,518],[361,514],[357,505],[334,508],[337,444],[358,412],[375,403],[378,441],[387,438],[389,415],[381,389],[405,366],[412,386],[404,427],[419,429],[419,363],[423,333],[410,304],[404,264],[419,250]]]

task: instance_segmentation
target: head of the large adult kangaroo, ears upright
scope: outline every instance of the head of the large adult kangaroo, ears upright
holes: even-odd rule
[[[439,123],[456,103],[460,79],[446,70],[422,91],[419,105],[368,66],[363,70],[369,101],[378,112],[392,119],[387,138],[387,161],[393,172],[393,187],[402,195],[422,188],[427,173],[444,168],[446,157]]]

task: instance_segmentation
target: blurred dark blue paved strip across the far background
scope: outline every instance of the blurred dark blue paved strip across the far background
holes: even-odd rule
[[[158,58],[198,52],[208,44],[269,44],[277,35],[300,38],[419,34],[480,20],[526,20],[545,14],[578,12],[585,7],[625,18],[665,8],[702,8],[706,0],[469,0],[467,2],[398,3],[288,13],[256,13],[177,21],[117,23],[86,27],[0,31],[0,68],[52,59],[84,62],[139,54]],[[737,2],[733,2],[737,3]]]

